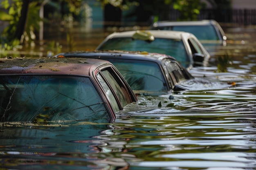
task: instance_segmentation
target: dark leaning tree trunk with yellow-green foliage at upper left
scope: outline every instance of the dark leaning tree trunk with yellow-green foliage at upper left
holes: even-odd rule
[[[8,11],[8,13],[1,11],[3,14],[1,19],[9,21],[9,26],[1,33],[0,43],[2,46],[5,48],[8,46],[8,49],[11,49],[13,46],[19,45],[21,40],[34,40],[34,31],[39,29],[38,22],[40,21],[38,2],[12,0],[10,4],[8,0],[4,0],[1,5]]]

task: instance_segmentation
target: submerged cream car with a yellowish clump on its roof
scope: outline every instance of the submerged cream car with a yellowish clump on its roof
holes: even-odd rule
[[[191,33],[183,31],[124,31],[112,33],[96,50],[147,51],[171,55],[185,68],[205,66],[210,58],[207,50]]]

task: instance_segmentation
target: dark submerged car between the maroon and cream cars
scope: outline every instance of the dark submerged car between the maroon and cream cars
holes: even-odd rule
[[[193,76],[175,58],[135,51],[74,51],[54,57],[98,58],[108,60],[126,79],[135,93],[184,90],[177,84]]]

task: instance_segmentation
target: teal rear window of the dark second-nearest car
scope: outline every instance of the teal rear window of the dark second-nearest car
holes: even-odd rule
[[[134,91],[168,91],[157,63],[140,60],[109,60]]]

